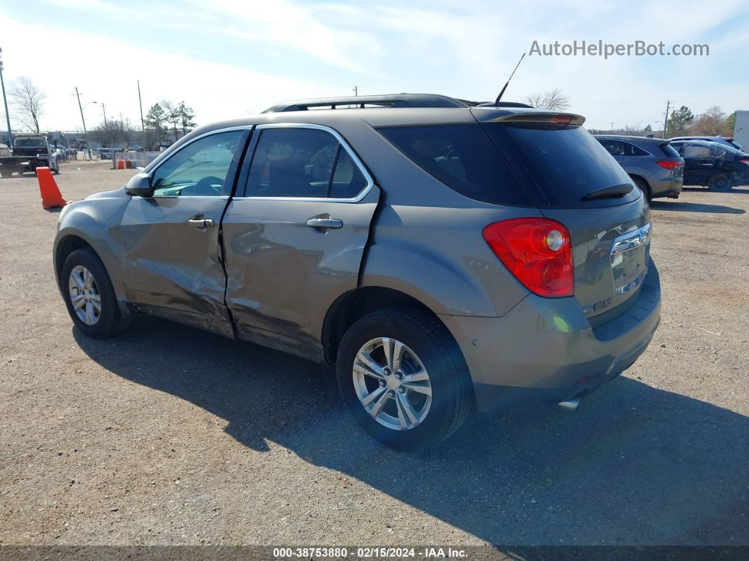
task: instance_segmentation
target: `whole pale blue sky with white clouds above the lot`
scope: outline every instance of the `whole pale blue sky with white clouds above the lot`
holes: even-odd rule
[[[749,109],[745,1],[0,0],[6,83],[28,76],[46,92],[50,130],[80,128],[76,85],[84,103],[138,123],[136,80],[145,110],[185,100],[201,124],[354,85],[489,100],[533,40],[599,39],[707,43],[710,55],[527,56],[505,99],[562,88],[595,128],[658,127],[666,100]]]

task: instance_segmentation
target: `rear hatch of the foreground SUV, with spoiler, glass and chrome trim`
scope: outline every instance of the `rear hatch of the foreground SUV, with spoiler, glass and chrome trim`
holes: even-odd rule
[[[579,115],[472,112],[544,216],[568,229],[574,295],[592,327],[625,312],[649,261],[650,210],[640,189]]]

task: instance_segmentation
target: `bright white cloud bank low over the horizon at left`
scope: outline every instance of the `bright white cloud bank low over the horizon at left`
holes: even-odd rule
[[[82,92],[82,103],[103,102],[108,118],[119,118],[122,113],[137,125],[136,80],[141,83],[144,113],[163,98],[185,100],[202,124],[260,112],[279,100],[340,94],[340,89],[330,83],[252,72],[99,35],[25,25],[1,15],[0,36],[5,45],[22,45],[21,49],[3,51],[6,85],[17,76],[28,76],[47,94],[45,115],[40,120],[45,129],[82,128],[76,86]],[[44,40],[29,41],[28,37]],[[64,46],[64,52],[57,54],[49,45]],[[12,107],[10,115],[13,118]],[[100,123],[100,104],[89,105],[85,117],[88,127]]]

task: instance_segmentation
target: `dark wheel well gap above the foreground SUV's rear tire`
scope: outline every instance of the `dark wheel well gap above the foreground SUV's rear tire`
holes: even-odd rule
[[[325,360],[330,364],[336,363],[341,339],[355,321],[378,309],[396,306],[419,308],[434,315],[431,309],[428,309],[416,298],[392,288],[365,286],[339,297],[325,315],[322,333]],[[434,315],[434,318],[439,321],[436,315]]]

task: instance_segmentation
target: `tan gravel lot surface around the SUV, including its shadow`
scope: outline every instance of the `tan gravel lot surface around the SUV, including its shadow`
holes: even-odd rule
[[[71,199],[133,173],[62,168]],[[0,194],[0,545],[749,545],[749,188],[652,204],[663,319],[622,377],[426,458],[305,360],[151,318],[86,339],[57,214],[32,175]]]

